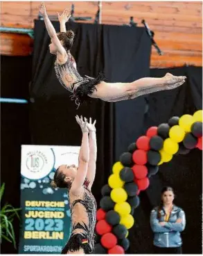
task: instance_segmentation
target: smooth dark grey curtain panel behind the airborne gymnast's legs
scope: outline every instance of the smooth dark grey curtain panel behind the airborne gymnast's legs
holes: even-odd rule
[[[143,28],[104,26],[105,74],[112,82],[132,82],[150,77],[151,41]],[[147,97],[114,104],[114,157],[118,159],[134,139],[143,122]],[[130,114],[129,114],[130,113]]]

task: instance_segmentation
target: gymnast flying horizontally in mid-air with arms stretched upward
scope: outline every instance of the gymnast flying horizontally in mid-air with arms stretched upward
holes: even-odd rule
[[[171,90],[181,86],[186,79],[186,77],[175,77],[170,73],[161,78],[144,77],[132,83],[107,83],[104,81],[105,77],[102,73],[98,74],[96,78],[81,77],[76,67],[76,61],[70,53],[74,33],[71,30],[66,31],[65,27],[65,21],[71,17],[69,10],[64,10],[61,16],[58,14],[60,33],[55,32],[50,19],[48,19],[44,3],[39,6],[39,12],[44,17],[46,30],[51,38],[50,52],[56,55],[56,76],[62,86],[73,94],[72,99],[76,99],[78,106],[85,102],[87,97],[102,99],[106,102],[118,102],[159,90]]]

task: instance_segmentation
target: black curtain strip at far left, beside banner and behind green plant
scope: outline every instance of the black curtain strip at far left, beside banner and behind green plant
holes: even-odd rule
[[[1,56],[1,97],[28,99],[31,65],[31,56]],[[1,103],[1,184],[6,184],[1,207],[6,202],[20,207],[21,145],[30,144],[28,116],[28,104]],[[13,225],[18,244],[20,221],[15,218]],[[17,253],[2,242],[1,253]]]

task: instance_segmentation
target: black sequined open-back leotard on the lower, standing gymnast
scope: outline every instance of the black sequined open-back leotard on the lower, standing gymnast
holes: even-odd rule
[[[96,200],[88,189],[86,180],[82,194],[78,197],[69,196],[71,207],[72,232],[62,254],[83,249],[85,254],[94,250],[94,227],[96,225]]]

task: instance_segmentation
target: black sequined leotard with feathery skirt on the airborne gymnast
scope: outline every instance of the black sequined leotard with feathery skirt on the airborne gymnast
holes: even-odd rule
[[[60,65],[55,61],[55,74],[61,85],[73,93],[71,99],[75,100],[78,106],[87,100],[88,95],[94,93],[100,81],[105,80],[103,73],[99,73],[96,78],[81,77],[76,68],[76,61],[69,52],[66,63]]]

